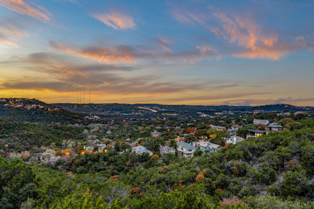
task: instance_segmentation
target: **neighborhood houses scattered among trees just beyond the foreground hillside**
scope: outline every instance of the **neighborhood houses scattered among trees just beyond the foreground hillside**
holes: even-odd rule
[[[296,113],[297,114],[297,113]],[[261,136],[263,134],[267,134],[270,132],[275,132],[275,131],[283,131],[284,127],[280,126],[278,123],[269,123],[269,120],[259,120],[259,119],[254,119],[253,121],[254,124],[258,124],[258,125],[266,125],[267,128],[265,131],[261,131],[261,130],[252,130],[252,129],[248,129],[246,132],[246,138],[241,138],[239,136],[236,136],[236,130],[239,128],[242,128],[242,126],[238,125],[238,124],[234,124],[232,125],[231,129],[228,129],[228,132],[230,133],[230,137],[229,138],[225,138],[225,144],[236,144],[239,143],[243,140],[246,140],[249,137],[258,137]],[[192,125],[193,123],[190,123],[189,125]],[[216,129],[218,131],[221,130],[225,130],[225,127],[222,126],[215,126],[215,125],[210,125],[211,128]],[[171,129],[174,128],[172,126],[165,126],[164,128],[166,129]],[[176,129],[180,130],[180,127],[175,127]],[[189,134],[194,134],[197,131],[197,128],[192,128],[192,132],[193,133],[189,133]],[[106,133],[112,133],[110,130],[108,130]],[[152,132],[150,132],[152,137],[158,137],[160,136],[162,133],[154,130]],[[183,135],[189,135],[189,134],[183,134]],[[144,147],[143,145],[141,145],[141,140],[142,139],[148,139],[148,138],[138,138],[137,140],[135,140],[133,143],[130,142],[124,142],[125,144],[130,145],[131,150],[133,153],[135,153],[136,155],[141,155],[141,154],[148,154],[149,156],[152,156],[154,153],[153,151],[149,150],[148,148]],[[105,140],[105,138],[103,138],[103,140]],[[127,138],[125,139],[125,141],[129,141],[130,139]],[[204,154],[210,154],[211,152],[215,152],[218,151],[219,149],[223,148],[221,145],[219,144],[213,144],[210,143],[209,141],[207,141],[207,138],[201,138],[198,142],[193,142],[191,144],[185,142],[184,137],[177,137],[174,138],[175,142],[176,142],[176,147],[170,147],[168,146],[168,144],[160,144],[160,155],[161,156],[165,156],[168,153],[175,153],[177,152],[178,155],[186,157],[186,158],[191,158],[194,155],[194,152],[197,149],[200,149],[203,151]],[[114,149],[115,147],[115,143],[110,143],[110,144],[102,144],[101,141],[99,139],[96,140],[89,140],[88,141],[91,144],[95,144],[93,146],[84,146],[84,149],[81,151],[80,154],[85,154],[85,153],[106,153],[109,149]],[[127,151],[128,149],[124,150]],[[62,150],[63,151],[63,150]],[[122,151],[121,153],[123,153],[124,151]],[[120,153],[120,154],[121,154]],[[53,164],[55,163],[58,159],[63,159],[65,162],[68,161],[69,159],[69,153],[67,153],[64,156],[41,156],[41,161],[44,161],[46,163],[50,163]]]

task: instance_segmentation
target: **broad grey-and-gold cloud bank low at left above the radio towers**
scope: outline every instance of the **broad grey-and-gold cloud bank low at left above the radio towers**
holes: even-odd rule
[[[21,79],[5,80],[1,90],[36,90],[56,92],[76,92],[77,87],[93,89],[100,95],[164,95],[206,89],[204,83],[186,81],[160,81],[160,77],[141,76],[132,72],[137,68],[106,65],[99,63],[72,63],[71,58],[51,54],[35,53],[25,58],[14,57],[12,60],[0,62],[1,67],[22,68],[24,71],[36,71],[49,75],[47,79],[35,79],[28,76]],[[36,74],[37,75],[37,74]],[[31,81],[30,81],[31,80]],[[181,85],[184,82],[185,85]]]

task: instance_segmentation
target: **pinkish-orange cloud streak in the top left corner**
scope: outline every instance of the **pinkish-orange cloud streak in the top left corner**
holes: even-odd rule
[[[30,6],[22,0],[0,0],[0,5],[13,10],[14,12],[44,21],[49,21],[51,19],[52,15],[47,11],[46,8],[34,3],[32,4],[34,7]]]

